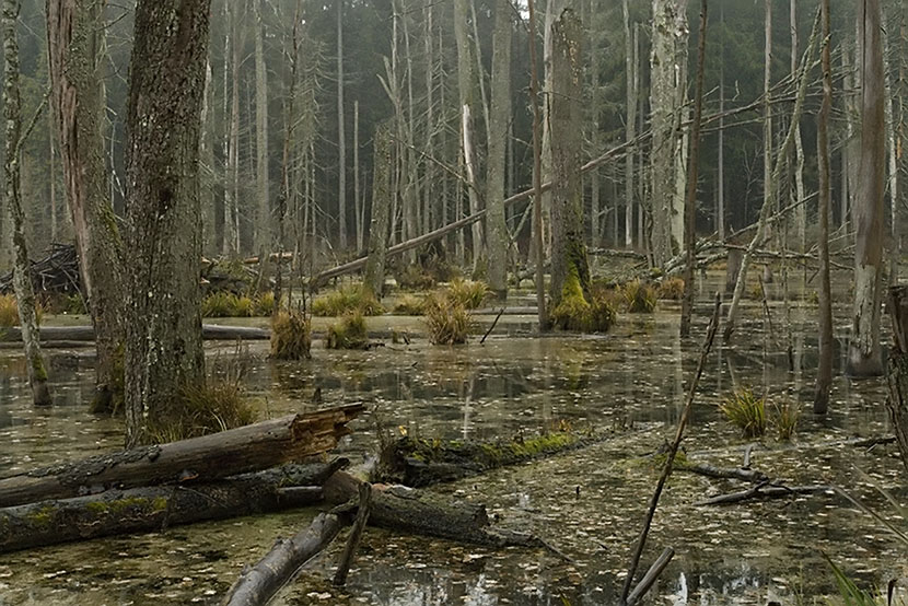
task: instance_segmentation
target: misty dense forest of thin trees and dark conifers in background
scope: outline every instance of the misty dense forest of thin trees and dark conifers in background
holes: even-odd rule
[[[383,123],[391,127],[395,150],[392,243],[468,213],[464,186],[457,177],[464,171],[458,166],[454,4],[433,0],[213,2],[201,155],[207,255],[249,254],[261,247],[270,248],[275,215],[282,202],[288,218],[286,246],[311,246],[306,249],[319,250],[333,260],[362,252],[372,193],[372,137]],[[699,3],[689,4],[688,45],[692,58],[698,42]],[[860,137],[854,94],[858,4],[848,0],[834,0],[831,4],[836,95],[831,130],[834,225],[848,220],[849,190],[853,189],[849,179],[854,178],[850,175],[853,161],[849,160],[848,150]],[[648,129],[651,5],[642,0],[628,2],[627,31],[633,36],[630,47],[635,48],[630,63],[626,60],[622,3],[582,0],[579,5],[586,36],[583,45],[584,156],[595,158],[627,138],[627,79],[635,71],[640,82],[635,95],[635,132]],[[787,129],[785,116],[794,101],[794,83],[790,78],[791,10],[795,7],[800,55],[810,38],[817,2],[773,0],[772,5],[772,108],[777,117],[775,129],[781,138],[779,133]],[[901,23],[901,3],[894,0],[885,7],[887,21]],[[537,8],[540,19],[546,8],[545,2]],[[26,119],[48,89],[44,10],[44,2],[25,0],[20,20]],[[106,8],[107,164],[110,198],[118,214],[125,205],[124,116],[132,10],[128,1],[109,2]],[[522,7],[514,5],[513,12],[508,194],[527,188],[533,170],[526,15]],[[763,201],[764,136],[761,108],[755,102],[760,100],[764,85],[765,14],[763,2],[753,0],[713,2],[710,13],[705,86],[707,123],[700,154],[697,225],[701,235],[724,236],[753,223]],[[484,153],[489,128],[493,15],[492,0],[472,0],[467,28],[470,58],[480,68],[474,68],[472,91],[479,107],[474,117],[479,182],[486,174]],[[889,81],[900,81],[899,70],[903,73],[905,70],[900,50],[904,25],[888,27],[886,34]],[[537,43],[542,57],[542,36]],[[628,65],[637,67],[628,72]],[[687,71],[688,81],[692,81],[694,69]],[[819,70],[814,71],[815,81],[808,91],[802,120],[807,191],[816,190],[814,116],[819,106]],[[342,91],[339,91],[340,84]],[[721,125],[724,133],[721,183],[720,123],[710,119],[720,110],[720,104],[727,114]],[[736,112],[747,107],[750,109]],[[890,115],[894,114],[890,112]],[[39,256],[51,242],[72,240],[51,119],[47,113],[42,116],[22,159],[23,199],[33,256]],[[645,248],[645,235],[641,240],[647,230],[641,208],[645,208],[648,200],[648,144],[644,138],[639,145],[630,148],[636,158],[631,176],[637,184],[630,221],[626,221],[625,203],[627,163],[616,158],[585,176],[585,229],[594,245],[612,247],[631,242],[637,248]],[[722,221],[718,219],[720,196],[724,205]],[[887,198],[887,208],[889,203]],[[815,223],[815,199],[806,208],[810,226]],[[508,209],[511,236],[524,253],[531,229],[531,222],[522,220],[525,209],[525,202]],[[7,261],[9,230],[5,220],[3,223],[2,256]],[[628,225],[632,225],[629,240]],[[461,261],[469,256],[469,237],[467,233],[449,241],[447,250]],[[808,237],[808,242],[814,240]]]

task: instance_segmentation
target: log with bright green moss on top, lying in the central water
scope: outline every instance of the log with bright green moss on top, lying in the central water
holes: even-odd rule
[[[382,452],[379,478],[421,487],[515,465],[601,441],[610,433],[552,432],[520,440],[464,442],[401,438]]]

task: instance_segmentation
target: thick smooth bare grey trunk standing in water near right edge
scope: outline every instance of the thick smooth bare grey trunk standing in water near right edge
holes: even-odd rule
[[[885,81],[883,77],[880,0],[863,1],[863,88],[861,165],[854,217],[854,323],[848,350],[848,373],[883,373],[880,316],[883,288],[883,195],[886,187]]]

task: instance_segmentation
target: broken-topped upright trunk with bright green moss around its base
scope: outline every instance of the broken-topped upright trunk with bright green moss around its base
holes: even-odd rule
[[[580,40],[583,32],[573,10],[564,9],[552,23],[552,98],[551,98],[551,301],[589,294],[590,268],[583,240],[583,182],[580,174],[582,153],[580,125],[581,66]]]

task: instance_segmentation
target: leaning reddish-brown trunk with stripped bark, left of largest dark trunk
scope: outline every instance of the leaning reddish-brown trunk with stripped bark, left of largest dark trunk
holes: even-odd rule
[[[100,0],[49,0],[47,44],[51,102],[60,137],[79,268],[95,333],[96,410],[109,410],[125,335],[123,244],[107,199],[104,167],[104,89],[97,33],[104,25]]]

